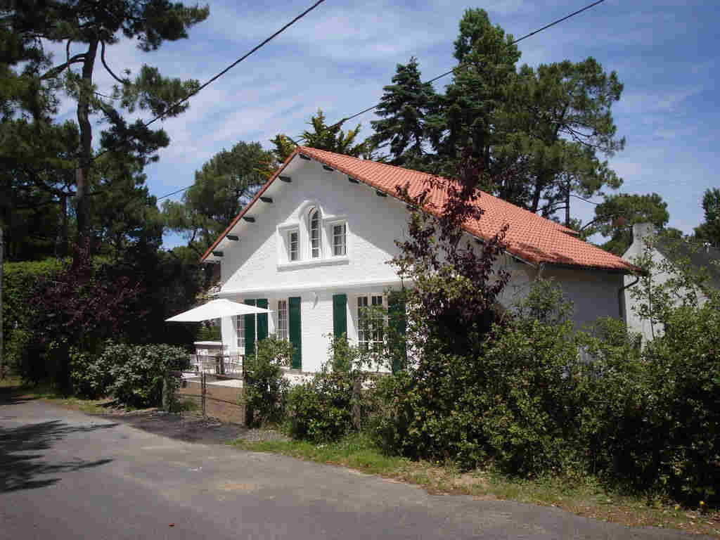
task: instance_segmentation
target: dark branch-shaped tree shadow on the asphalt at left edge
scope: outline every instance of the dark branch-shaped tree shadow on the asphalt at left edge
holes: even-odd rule
[[[72,462],[48,463],[42,451],[50,449],[55,441],[75,433],[88,433],[114,426],[117,423],[71,426],[60,420],[52,420],[17,428],[0,428],[0,492],[45,487],[58,482],[59,474],[112,462],[112,459],[77,459]]]

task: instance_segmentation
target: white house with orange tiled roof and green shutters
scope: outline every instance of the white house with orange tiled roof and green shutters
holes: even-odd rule
[[[387,307],[399,287],[387,261],[408,221],[395,186],[423,189],[428,174],[299,147],[210,247],[203,261],[220,264],[220,297],[269,307],[271,315],[224,320],[222,341],[248,354],[268,333],[292,341],[293,368],[315,372],[329,336],[345,332],[372,343],[364,307]],[[441,193],[433,194],[441,197]],[[533,212],[482,194],[485,215],[467,224],[477,240],[506,223],[508,248],[499,264],[512,274],[503,304],[539,276],[554,278],[575,304],[577,325],[622,317],[624,274],[634,267],[579,240],[575,232]]]

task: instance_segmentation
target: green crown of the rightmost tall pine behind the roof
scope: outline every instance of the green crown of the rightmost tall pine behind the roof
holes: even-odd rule
[[[622,90],[617,74],[603,71],[594,58],[521,66],[503,88],[492,148],[495,164],[514,178],[490,187],[544,217],[565,210],[565,222],[570,194],[591,197],[604,186],[617,189],[622,180],[599,155],[624,148],[611,114]]]

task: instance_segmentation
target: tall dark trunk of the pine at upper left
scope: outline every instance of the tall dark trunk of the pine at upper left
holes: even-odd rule
[[[86,187],[90,158],[92,157],[92,126],[90,124],[90,99],[92,95],[92,73],[97,55],[98,40],[91,40],[83,62],[83,73],[78,93],[78,125],[80,145],[78,146],[78,168],[75,174],[75,212],[78,226],[77,243],[81,246],[86,235],[87,219],[85,210]]]

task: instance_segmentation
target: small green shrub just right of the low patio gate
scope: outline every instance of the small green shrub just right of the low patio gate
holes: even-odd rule
[[[258,342],[257,355],[246,356],[243,401],[248,426],[279,423],[285,413],[289,382],[284,367],[292,360],[292,343],[268,336]]]

